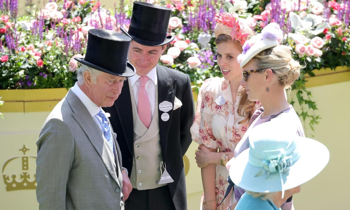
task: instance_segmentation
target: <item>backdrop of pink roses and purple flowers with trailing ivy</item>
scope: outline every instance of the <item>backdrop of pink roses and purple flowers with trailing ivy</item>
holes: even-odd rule
[[[194,89],[206,78],[221,76],[215,62],[215,16],[236,12],[259,32],[270,22],[283,30],[295,59],[306,65],[297,89],[301,112],[309,125],[319,116],[305,75],[312,70],[350,66],[350,0],[147,0],[173,10],[168,45],[160,64],[187,73]],[[57,0],[28,5],[27,15],[18,16],[18,0],[0,0],[0,89],[71,87],[78,68],[74,57],[84,56],[87,31],[128,28],[132,1],[120,0],[103,8],[96,0]],[[294,103],[292,101],[292,103]]]

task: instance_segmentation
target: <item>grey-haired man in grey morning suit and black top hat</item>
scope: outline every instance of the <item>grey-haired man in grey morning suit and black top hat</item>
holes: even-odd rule
[[[118,137],[101,107],[112,106],[126,77],[131,39],[89,30],[78,82],[46,119],[37,140],[39,209],[123,210],[132,186],[122,169]]]

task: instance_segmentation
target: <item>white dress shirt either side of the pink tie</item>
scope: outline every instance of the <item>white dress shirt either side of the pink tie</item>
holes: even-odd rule
[[[149,99],[149,105],[151,106],[151,119],[153,118],[154,108],[155,108],[155,90],[157,86],[157,70],[156,67],[154,67],[148,74],[146,75],[149,77],[147,80],[147,83],[145,85],[146,92],[148,94]],[[132,92],[134,94],[135,104],[138,103],[137,94],[140,89],[140,78],[141,76],[137,75],[137,73],[129,77],[128,80],[130,81]]]

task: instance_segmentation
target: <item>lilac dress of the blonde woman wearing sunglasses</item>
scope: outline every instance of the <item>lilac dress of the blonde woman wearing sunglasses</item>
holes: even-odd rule
[[[275,115],[272,115],[272,116],[269,116],[269,117],[262,118],[261,117],[262,113],[264,113],[263,107],[260,107],[259,109],[257,109],[254,112],[254,114],[249,122],[248,130],[246,131],[246,133],[242,137],[241,141],[238,143],[238,145],[235,148],[235,152],[234,152],[235,157],[237,157],[237,155],[239,155],[241,152],[243,152],[244,150],[249,148],[249,133],[250,133],[251,129],[259,124],[266,123],[268,121],[276,122],[279,124],[285,124],[292,131],[295,131],[295,134],[297,136],[301,136],[301,137],[305,136],[303,127],[301,125],[301,121],[300,121],[298,115],[296,114],[296,112],[294,111],[294,108],[292,105],[289,105],[288,109],[283,110],[282,112],[275,114]],[[231,159],[231,160],[233,160],[233,159]],[[228,163],[228,164],[230,164],[230,163]],[[239,198],[243,194],[244,194],[244,190],[239,188],[238,186],[235,186],[235,199],[237,201],[239,200]]]

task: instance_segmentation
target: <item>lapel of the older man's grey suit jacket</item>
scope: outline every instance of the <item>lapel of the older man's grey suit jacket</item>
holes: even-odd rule
[[[86,133],[87,137],[89,138],[93,147],[96,149],[110,175],[119,184],[116,174],[116,163],[110,158],[113,157],[114,154],[111,148],[109,148],[109,146],[103,140],[102,131],[92,119],[91,114],[86,109],[84,104],[71,90],[69,90],[67,93],[66,99],[74,112],[72,113],[73,118]]]

